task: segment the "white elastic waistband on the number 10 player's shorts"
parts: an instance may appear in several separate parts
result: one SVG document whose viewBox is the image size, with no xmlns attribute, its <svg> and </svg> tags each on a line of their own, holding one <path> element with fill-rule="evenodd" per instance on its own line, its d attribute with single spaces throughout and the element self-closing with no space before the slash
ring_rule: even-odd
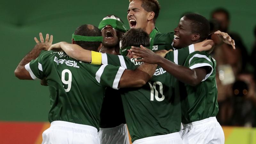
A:
<svg viewBox="0 0 256 144">
<path fill-rule="evenodd" d="M 179 132 L 174 132 L 170 134 L 164 134 L 164 135 L 157 135 L 157 136 L 152 136 L 152 137 L 147 137 L 139 140 L 134 140 L 132 144 L 139 144 L 139 143 L 145 143 L 145 142 L 152 142 L 152 140 L 170 140 L 170 139 L 175 139 L 175 138 L 180 138 Z"/>
</svg>

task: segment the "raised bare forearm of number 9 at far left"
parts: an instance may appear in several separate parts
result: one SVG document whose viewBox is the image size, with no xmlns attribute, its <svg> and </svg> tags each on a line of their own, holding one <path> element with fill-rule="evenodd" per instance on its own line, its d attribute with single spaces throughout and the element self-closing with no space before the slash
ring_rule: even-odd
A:
<svg viewBox="0 0 256 144">
<path fill-rule="evenodd" d="M 35 47 L 20 61 L 19 65 L 14 71 L 15 76 L 19 79 L 32 79 L 29 72 L 25 69 L 25 65 L 31 60 L 36 59 L 43 49 L 43 43 L 36 44 Z"/>
</svg>

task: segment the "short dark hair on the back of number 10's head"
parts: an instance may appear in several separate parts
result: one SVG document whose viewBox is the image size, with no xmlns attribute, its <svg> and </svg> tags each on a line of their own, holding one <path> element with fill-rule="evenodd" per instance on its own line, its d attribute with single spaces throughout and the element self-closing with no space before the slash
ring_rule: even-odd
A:
<svg viewBox="0 0 256 144">
<path fill-rule="evenodd" d="M 122 46 L 120 48 L 125 48 L 127 46 L 149 46 L 149 35 L 141 28 L 131 28 L 128 30 L 124 36 L 121 38 Z"/>
</svg>

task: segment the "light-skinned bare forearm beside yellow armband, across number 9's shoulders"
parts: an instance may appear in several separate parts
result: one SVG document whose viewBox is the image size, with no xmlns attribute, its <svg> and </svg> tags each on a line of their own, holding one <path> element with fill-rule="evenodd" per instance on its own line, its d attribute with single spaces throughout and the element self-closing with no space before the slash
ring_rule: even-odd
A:
<svg viewBox="0 0 256 144">
<path fill-rule="evenodd" d="M 90 62 L 92 60 L 92 51 L 85 50 L 77 44 L 63 43 L 60 47 L 71 58 L 84 62 Z"/>
</svg>

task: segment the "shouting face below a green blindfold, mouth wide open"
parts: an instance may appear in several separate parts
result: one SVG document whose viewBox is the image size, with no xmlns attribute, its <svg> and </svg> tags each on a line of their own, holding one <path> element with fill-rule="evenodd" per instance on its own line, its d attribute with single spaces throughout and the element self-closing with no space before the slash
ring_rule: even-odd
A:
<svg viewBox="0 0 256 144">
<path fill-rule="evenodd" d="M 118 43 L 118 36 L 116 30 L 112 28 L 112 26 L 107 25 L 101 31 L 103 41 L 102 44 L 105 47 L 113 47 Z"/>
</svg>

